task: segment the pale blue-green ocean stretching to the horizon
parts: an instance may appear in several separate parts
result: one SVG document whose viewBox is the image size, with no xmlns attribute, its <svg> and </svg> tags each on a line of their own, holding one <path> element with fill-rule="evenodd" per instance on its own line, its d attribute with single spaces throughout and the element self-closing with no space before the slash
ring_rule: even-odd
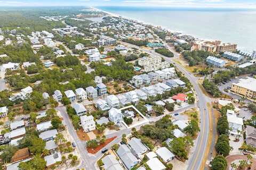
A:
<svg viewBox="0 0 256 170">
<path fill-rule="evenodd" d="M 125 6 L 97 8 L 196 38 L 237 43 L 238 49 L 244 51 L 256 49 L 256 10 Z"/>
</svg>

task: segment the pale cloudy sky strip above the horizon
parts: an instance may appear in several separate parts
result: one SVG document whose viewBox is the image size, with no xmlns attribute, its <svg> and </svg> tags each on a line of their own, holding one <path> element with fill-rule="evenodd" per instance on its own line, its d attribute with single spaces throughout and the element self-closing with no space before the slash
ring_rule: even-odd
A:
<svg viewBox="0 0 256 170">
<path fill-rule="evenodd" d="M 0 0 L 0 6 L 160 6 L 256 8 L 256 0 Z"/>
</svg>

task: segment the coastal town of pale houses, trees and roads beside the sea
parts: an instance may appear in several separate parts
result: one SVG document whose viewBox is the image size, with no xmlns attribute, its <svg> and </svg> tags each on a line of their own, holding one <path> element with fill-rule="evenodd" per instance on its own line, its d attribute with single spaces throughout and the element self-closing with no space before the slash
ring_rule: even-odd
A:
<svg viewBox="0 0 256 170">
<path fill-rule="evenodd" d="M 0 19 L 1 169 L 256 168 L 256 49 L 96 8 L 26 14 Z"/>
</svg>

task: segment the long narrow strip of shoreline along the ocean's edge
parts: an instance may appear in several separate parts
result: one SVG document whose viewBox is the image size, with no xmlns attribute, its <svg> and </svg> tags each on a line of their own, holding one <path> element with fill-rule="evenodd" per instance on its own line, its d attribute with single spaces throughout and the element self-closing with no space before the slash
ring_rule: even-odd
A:
<svg viewBox="0 0 256 170">
<path fill-rule="evenodd" d="M 166 26 L 163 26 L 163 25 L 154 25 L 154 24 L 152 24 L 152 23 L 147 23 L 147 22 L 144 22 L 144 21 L 140 21 L 140 20 L 138 20 L 138 19 L 133 19 L 133 18 L 129 18 L 129 17 L 127 17 L 127 16 L 122 16 L 122 15 L 120 15 L 120 14 L 111 13 L 111 12 L 108 12 L 108 11 L 105 11 L 105 10 L 101 10 L 100 8 L 97 8 L 97 7 L 91 7 L 91 8 L 93 8 L 94 10 L 100 11 L 100 12 L 104 12 L 104 13 L 110 15 L 110 16 L 113 16 L 113 17 L 121 17 L 121 18 L 124 18 L 124 19 L 137 21 L 137 22 L 140 22 L 140 23 L 142 23 L 142 24 L 151 25 L 151 26 L 153 26 L 153 27 L 161 27 L 162 29 L 167 30 L 167 31 L 169 31 L 169 32 L 177 32 L 177 33 L 180 33 L 181 35 L 192 36 L 192 37 L 194 37 L 194 38 L 197 39 L 197 40 L 209 40 L 209 41 L 220 40 L 220 39 L 211 39 L 211 38 L 203 38 L 203 37 L 200 38 L 199 36 L 188 34 L 188 33 L 184 32 L 184 31 L 182 31 L 182 30 L 172 30 L 172 29 L 168 29 Z M 220 40 L 220 41 L 222 41 L 222 40 Z M 227 43 L 227 42 L 224 42 L 224 43 Z M 230 43 L 230 42 L 228 42 L 228 43 Z M 232 42 L 232 43 L 234 43 L 234 42 Z M 252 53 L 252 50 L 247 50 L 248 47 L 240 47 L 237 42 L 235 42 L 235 44 L 237 44 L 237 46 L 238 46 L 237 49 L 238 49 L 238 50 L 241 50 L 242 52 Z"/>
</svg>

